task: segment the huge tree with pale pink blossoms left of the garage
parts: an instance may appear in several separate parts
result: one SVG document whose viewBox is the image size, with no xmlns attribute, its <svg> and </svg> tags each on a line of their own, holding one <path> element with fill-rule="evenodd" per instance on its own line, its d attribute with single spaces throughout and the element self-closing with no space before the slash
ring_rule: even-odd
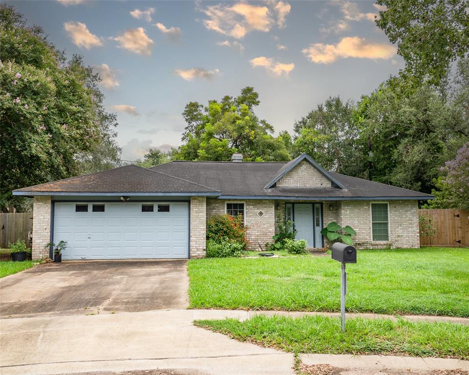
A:
<svg viewBox="0 0 469 375">
<path fill-rule="evenodd" d="M 81 57 L 66 61 L 12 6 L 0 5 L 0 26 L 0 209 L 14 210 L 13 189 L 112 167 L 120 149 Z"/>
</svg>

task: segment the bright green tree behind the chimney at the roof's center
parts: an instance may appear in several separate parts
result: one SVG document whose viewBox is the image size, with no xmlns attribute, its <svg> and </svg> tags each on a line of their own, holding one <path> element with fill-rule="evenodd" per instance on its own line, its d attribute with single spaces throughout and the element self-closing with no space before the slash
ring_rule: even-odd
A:
<svg viewBox="0 0 469 375">
<path fill-rule="evenodd" d="M 172 158 L 229 161 L 233 153 L 241 152 L 248 161 L 289 160 L 285 134 L 275 137 L 272 125 L 256 116 L 254 108 L 259 103 L 254 88 L 245 87 L 235 98 L 227 95 L 207 106 L 187 104 L 183 112 L 185 144 Z"/>
</svg>

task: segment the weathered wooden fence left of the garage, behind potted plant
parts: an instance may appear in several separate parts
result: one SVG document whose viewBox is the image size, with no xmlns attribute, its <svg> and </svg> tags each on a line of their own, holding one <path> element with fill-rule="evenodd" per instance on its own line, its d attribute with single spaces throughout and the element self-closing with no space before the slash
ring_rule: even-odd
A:
<svg viewBox="0 0 469 375">
<path fill-rule="evenodd" d="M 7 248 L 8 242 L 16 242 L 19 238 L 30 246 L 28 239 L 30 230 L 33 230 L 32 212 L 0 212 L 0 248 Z"/>
</svg>

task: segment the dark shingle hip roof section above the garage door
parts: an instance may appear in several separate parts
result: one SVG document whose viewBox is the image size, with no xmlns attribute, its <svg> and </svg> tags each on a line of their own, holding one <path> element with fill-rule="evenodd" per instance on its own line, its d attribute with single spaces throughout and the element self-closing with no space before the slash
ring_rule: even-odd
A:
<svg viewBox="0 0 469 375">
<path fill-rule="evenodd" d="M 162 171 L 134 165 L 114 168 L 104 172 L 70 177 L 41 185 L 24 187 L 18 192 L 216 192 L 217 190 L 195 182 L 169 176 Z"/>
</svg>

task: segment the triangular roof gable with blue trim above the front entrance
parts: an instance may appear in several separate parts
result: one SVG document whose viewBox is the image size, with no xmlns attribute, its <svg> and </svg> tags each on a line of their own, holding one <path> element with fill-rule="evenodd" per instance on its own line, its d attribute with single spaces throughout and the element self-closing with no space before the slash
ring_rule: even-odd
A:
<svg viewBox="0 0 469 375">
<path fill-rule="evenodd" d="M 314 169 L 309 168 L 308 170 L 308 165 L 313 167 Z M 295 172 L 299 171 L 299 168 L 303 169 L 303 176 L 294 176 L 294 174 L 297 174 Z M 289 175 L 290 178 L 288 178 Z M 319 176 L 322 176 L 322 178 L 320 178 Z M 328 181 L 331 184 L 326 184 L 325 181 Z M 280 185 L 278 185 L 277 183 L 280 183 Z M 275 178 L 270 181 L 264 188 L 268 189 L 276 184 L 277 186 L 283 187 L 332 187 L 332 183 L 335 184 L 337 187 L 340 187 L 341 189 L 345 189 L 345 187 L 339 182 L 339 180 L 337 180 L 332 174 L 330 174 L 317 162 L 311 159 L 308 154 L 303 153 L 298 156 L 298 158 L 293 159 L 291 162 L 281 167 L 277 172 Z M 293 186 L 289 186 L 288 184 Z M 310 185 L 306 186 L 305 184 Z"/>
</svg>

